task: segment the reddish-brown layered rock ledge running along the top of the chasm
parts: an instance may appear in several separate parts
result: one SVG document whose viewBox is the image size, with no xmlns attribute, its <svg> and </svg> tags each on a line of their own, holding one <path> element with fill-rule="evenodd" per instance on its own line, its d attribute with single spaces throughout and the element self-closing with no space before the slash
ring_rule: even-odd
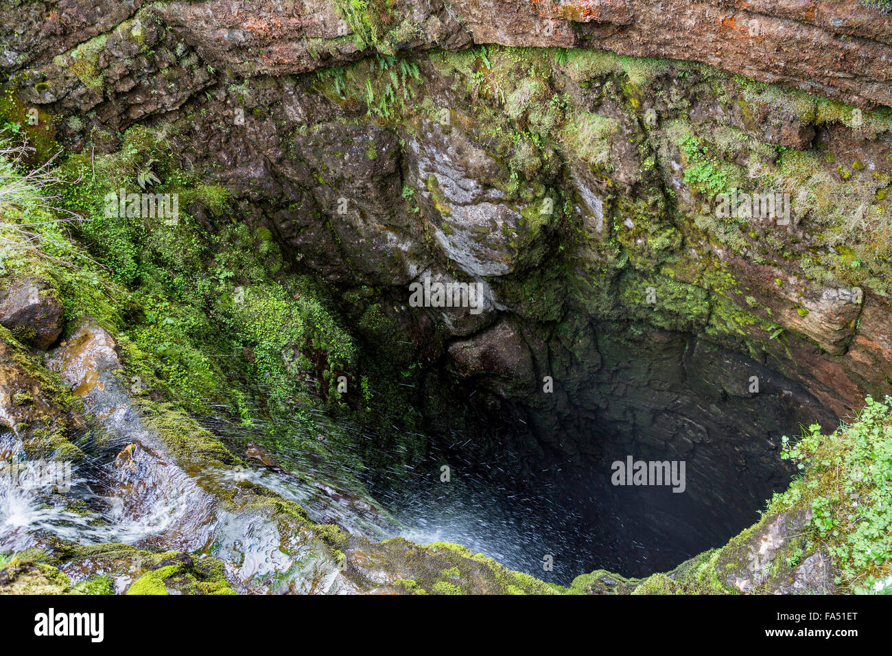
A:
<svg viewBox="0 0 892 656">
<path fill-rule="evenodd" d="M 161 21 L 205 62 L 237 75 L 288 74 L 390 49 L 599 47 L 619 54 L 704 62 L 765 82 L 808 88 L 855 104 L 888 104 L 892 21 L 857 0 L 833 2 L 428 1 L 366 12 L 311 2 L 7 3 L 7 71 L 42 64 L 136 14 Z M 347 5 L 344 5 L 347 7 Z M 146 12 L 139 10 L 145 7 Z M 344 19 L 347 19 L 346 25 Z M 359 46 L 348 44 L 355 35 Z M 365 39 L 368 43 L 363 44 Z M 320 47 L 321 46 L 321 47 Z M 318 50 L 331 50 L 318 56 Z"/>
</svg>

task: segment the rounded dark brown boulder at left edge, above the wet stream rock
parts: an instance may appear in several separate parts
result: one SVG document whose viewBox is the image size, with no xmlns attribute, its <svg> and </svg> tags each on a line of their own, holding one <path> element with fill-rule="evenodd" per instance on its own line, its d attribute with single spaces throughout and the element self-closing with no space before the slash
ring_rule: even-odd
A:
<svg viewBox="0 0 892 656">
<path fill-rule="evenodd" d="M 46 349 L 62 334 L 62 305 L 45 283 L 12 280 L 0 290 L 0 325 L 20 342 Z"/>
</svg>

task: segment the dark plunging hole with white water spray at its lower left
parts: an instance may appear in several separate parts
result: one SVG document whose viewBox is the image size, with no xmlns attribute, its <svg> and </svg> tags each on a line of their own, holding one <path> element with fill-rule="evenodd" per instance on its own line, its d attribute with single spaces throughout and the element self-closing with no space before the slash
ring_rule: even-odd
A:
<svg viewBox="0 0 892 656">
<path fill-rule="evenodd" d="M 478 429 L 454 430 L 408 485 L 369 480 L 409 525 L 404 535 L 464 544 L 561 585 L 596 569 L 646 577 L 754 524 L 795 471 L 780 437 L 838 421 L 789 378 L 691 336 L 598 346 L 599 366 L 567 383 L 558 411 L 473 394 L 485 383 L 468 382 Z M 683 492 L 614 485 L 614 463 L 630 457 L 676 463 L 676 475 L 683 461 Z"/>
</svg>

